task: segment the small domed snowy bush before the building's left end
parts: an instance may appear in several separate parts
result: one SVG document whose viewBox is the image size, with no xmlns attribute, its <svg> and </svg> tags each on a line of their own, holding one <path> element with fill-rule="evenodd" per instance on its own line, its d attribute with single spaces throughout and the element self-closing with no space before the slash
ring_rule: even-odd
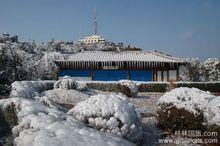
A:
<svg viewBox="0 0 220 146">
<path fill-rule="evenodd" d="M 58 80 L 54 84 L 54 89 L 61 88 L 61 89 L 76 89 L 77 88 L 77 82 L 69 77 L 63 78 L 61 80 Z"/>
</svg>

